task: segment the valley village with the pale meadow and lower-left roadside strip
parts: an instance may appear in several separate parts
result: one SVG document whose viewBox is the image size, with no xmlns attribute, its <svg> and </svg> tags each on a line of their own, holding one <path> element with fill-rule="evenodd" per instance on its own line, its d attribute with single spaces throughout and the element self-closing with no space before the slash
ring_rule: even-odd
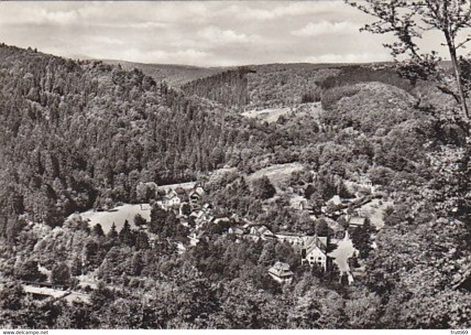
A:
<svg viewBox="0 0 471 335">
<path fill-rule="evenodd" d="M 156 243 L 159 243 L 159 239 L 158 235 L 149 229 L 149 221 L 151 209 L 156 207 L 167 213 L 172 213 L 177 219 L 176 222 L 189 232 L 186 242 L 172 241 L 176 245 L 178 253 L 185 253 L 202 241 L 208 242 L 211 238 L 208 230 L 211 227 L 218 227 L 217 230 L 222 232 L 222 235 L 232 237 L 235 243 L 248 239 L 262 244 L 270 241 L 289 244 L 298 255 L 300 265 L 315 267 L 321 273 L 339 271 L 339 280 L 346 278 L 346 284 L 350 285 L 356 277 L 364 275 L 364 269 L 358 265 L 358 250 L 352 244 L 349 230 L 362 227 L 367 220 L 373 224 L 375 229 L 381 229 L 383 225 L 382 212 L 392 202 L 368 179 L 361 179 L 357 182 L 346 181 L 345 184 L 351 191 L 351 196 L 347 198 L 335 195 L 325 201 L 320 211 L 317 212 L 309 206 L 309 202 L 304 196 L 299 195 L 299 192 L 293 192 L 290 199 L 292 210 L 309 214 L 313 221 L 322 219 L 327 223 L 330 233 L 324 235 L 290 231 L 289 227 L 273 232 L 267 225 L 250 221 L 240 217 L 237 213 L 220 215 L 217 208 L 213 208 L 212 204 L 205 201 L 206 192 L 203 186 L 195 182 L 159 187 L 152 182 L 139 183 L 137 188 L 141 193 L 148 193 L 149 189 L 152 190 L 151 203 L 122 205 L 116 207 L 117 209 L 110 208 L 109 210 L 73 214 L 68 220 L 75 220 L 83 216 L 83 219 L 89 222 L 90 228 L 99 221 L 102 222 L 100 226 L 103 224 L 103 228 L 107 232 L 111 229 L 110 220 L 113 221 L 113 226 L 116 221 L 122 227 L 122 223 L 116 218 L 123 219 L 125 215 L 123 216 L 122 210 L 131 209 L 130 212 L 127 212 L 127 217 L 139 216 L 145 222 L 137 227 L 134 224 L 136 220 L 129 220 L 134 225 L 133 228 L 144 232 L 148 236 L 150 246 L 155 247 Z M 108 223 L 106 223 L 107 221 Z M 125 221 L 128 222 L 127 219 Z M 371 247 L 376 247 L 374 241 Z M 356 266 L 352 266 L 353 259 Z M 282 261 L 276 261 L 266 271 L 274 281 L 280 284 L 291 283 L 295 276 L 290 265 Z M 89 293 L 84 292 L 83 287 L 96 288 L 96 280 L 90 276 L 82 275 L 77 281 L 78 285 L 75 287 L 53 285 L 49 282 L 23 282 L 22 285 L 25 292 L 32 294 L 37 299 L 49 296 L 55 300 L 88 302 Z"/>
</svg>

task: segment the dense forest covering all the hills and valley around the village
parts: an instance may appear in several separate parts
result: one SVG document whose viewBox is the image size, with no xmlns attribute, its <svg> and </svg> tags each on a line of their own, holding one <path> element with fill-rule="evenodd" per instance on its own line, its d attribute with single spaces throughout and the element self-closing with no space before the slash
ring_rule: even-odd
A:
<svg viewBox="0 0 471 335">
<path fill-rule="evenodd" d="M 470 146 L 456 101 L 387 64 L 252 70 L 176 89 L 138 69 L 0 46 L 2 327 L 471 327 Z M 276 122 L 239 114 L 278 107 L 289 113 Z M 302 169 L 254 177 L 285 163 Z M 189 247 L 190 209 L 156 205 L 157 185 L 197 180 L 197 205 L 219 219 L 330 235 L 332 219 L 289 196 L 317 213 L 362 178 L 392 205 L 382 229 L 349 229 L 363 271 L 352 285 L 301 265 L 290 244 L 237 239 L 224 220 Z M 65 221 L 143 201 L 149 222 Z M 292 283 L 268 276 L 276 261 Z M 45 273 L 50 285 L 98 284 L 83 285 L 89 302 L 35 300 L 21 283 Z"/>
</svg>

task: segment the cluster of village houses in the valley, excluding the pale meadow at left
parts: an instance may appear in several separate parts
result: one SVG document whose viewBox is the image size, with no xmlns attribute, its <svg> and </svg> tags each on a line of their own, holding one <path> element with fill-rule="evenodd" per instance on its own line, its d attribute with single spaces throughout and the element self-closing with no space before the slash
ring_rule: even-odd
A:
<svg viewBox="0 0 471 335">
<path fill-rule="evenodd" d="M 348 230 L 363 226 L 366 220 L 369 220 L 375 229 L 381 229 L 382 212 L 392 204 L 387 195 L 373 185 L 371 180 L 361 178 L 357 182 L 346 181 L 352 196 L 342 198 L 335 195 L 325 202 L 320 212 L 314 212 L 303 196 L 292 196 L 290 201 L 295 211 L 309 213 L 313 221 L 323 219 L 332 231 L 331 234 L 307 235 L 290 231 L 289 227 L 275 233 L 266 225 L 241 218 L 237 213 L 225 216 L 215 214 L 217 211 L 212 205 L 203 202 L 205 191 L 200 184 L 183 185 L 185 188 L 179 186 L 159 188 L 155 202 L 163 210 L 173 211 L 180 224 L 190 231 L 187 235 L 188 245 L 178 243 L 180 253 L 197 245 L 201 240 L 210 238 L 207 228 L 210 225 L 217 225 L 224 228 L 224 234 L 235 237 L 235 243 L 241 239 L 262 243 L 273 240 L 289 243 L 299 255 L 301 265 L 316 266 L 317 269 L 328 272 L 334 269 L 335 263 L 335 268 L 340 271 L 340 275 L 348 278 L 349 284 L 354 281 L 355 276 L 362 276 L 362 272 L 361 269 L 351 269 L 351 258 L 357 256 L 358 251 L 351 243 Z M 154 234 L 149 234 L 149 238 L 150 242 L 154 243 Z M 375 247 L 373 242 L 372 248 Z M 290 283 L 294 275 L 289 265 L 280 261 L 268 268 L 267 272 L 278 283 Z"/>
</svg>

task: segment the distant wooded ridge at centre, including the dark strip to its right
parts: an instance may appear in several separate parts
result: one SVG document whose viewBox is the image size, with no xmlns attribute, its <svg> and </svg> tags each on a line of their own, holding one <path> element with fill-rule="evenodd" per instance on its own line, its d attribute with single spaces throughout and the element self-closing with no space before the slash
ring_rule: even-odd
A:
<svg viewBox="0 0 471 335">
<path fill-rule="evenodd" d="M 239 111 L 320 101 L 323 90 L 360 82 L 383 82 L 411 90 L 392 68 L 390 63 L 250 65 L 221 69 L 181 88 Z"/>
</svg>

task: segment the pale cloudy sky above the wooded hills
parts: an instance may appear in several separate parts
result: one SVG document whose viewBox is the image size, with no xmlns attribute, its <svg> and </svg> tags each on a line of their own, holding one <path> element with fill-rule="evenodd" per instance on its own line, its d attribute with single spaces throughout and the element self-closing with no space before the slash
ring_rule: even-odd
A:
<svg viewBox="0 0 471 335">
<path fill-rule="evenodd" d="M 227 66 L 391 60 L 329 1 L 0 1 L 0 42 L 71 58 Z"/>
</svg>

